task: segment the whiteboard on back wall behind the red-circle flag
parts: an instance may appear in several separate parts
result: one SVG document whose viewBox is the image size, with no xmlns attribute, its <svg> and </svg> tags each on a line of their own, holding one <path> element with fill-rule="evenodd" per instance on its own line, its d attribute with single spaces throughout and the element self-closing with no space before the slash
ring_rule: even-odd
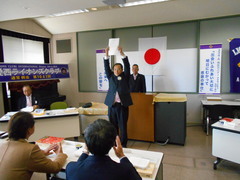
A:
<svg viewBox="0 0 240 180">
<path fill-rule="evenodd" d="M 139 65 L 139 73 L 146 78 L 147 92 L 196 92 L 197 87 L 197 48 L 167 50 L 162 63 L 161 75 L 145 75 L 139 58 L 141 52 L 125 52 L 130 67 Z M 114 63 L 122 63 L 121 56 L 116 56 Z"/>
</svg>

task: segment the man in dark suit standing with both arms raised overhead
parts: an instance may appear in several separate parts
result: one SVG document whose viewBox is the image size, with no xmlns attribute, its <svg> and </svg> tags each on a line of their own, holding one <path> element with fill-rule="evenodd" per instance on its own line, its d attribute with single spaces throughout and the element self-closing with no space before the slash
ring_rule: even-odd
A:
<svg viewBox="0 0 240 180">
<path fill-rule="evenodd" d="M 109 66 L 109 48 L 106 48 L 106 56 L 104 58 L 105 73 L 109 81 L 109 89 L 105 99 L 105 104 L 108 106 L 108 117 L 115 128 L 120 130 L 120 139 L 123 147 L 127 147 L 127 121 L 128 121 L 128 106 L 132 105 L 132 98 L 129 90 L 130 64 L 128 57 L 118 48 L 123 64 L 116 63 L 113 66 L 113 71 Z"/>
</svg>

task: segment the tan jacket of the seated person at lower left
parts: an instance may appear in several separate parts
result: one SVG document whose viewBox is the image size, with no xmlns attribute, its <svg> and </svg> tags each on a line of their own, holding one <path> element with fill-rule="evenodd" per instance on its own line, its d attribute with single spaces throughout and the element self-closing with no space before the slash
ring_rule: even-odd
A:
<svg viewBox="0 0 240 180">
<path fill-rule="evenodd" d="M 58 154 L 54 161 L 48 159 L 35 144 L 24 139 L 0 144 L 0 179 L 28 180 L 33 172 L 57 173 L 63 167 L 66 154 Z"/>
</svg>

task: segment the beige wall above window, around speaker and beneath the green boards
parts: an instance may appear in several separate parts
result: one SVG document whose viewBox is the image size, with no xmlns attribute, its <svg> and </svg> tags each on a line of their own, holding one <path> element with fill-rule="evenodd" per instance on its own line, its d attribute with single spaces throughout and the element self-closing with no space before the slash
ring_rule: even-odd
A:
<svg viewBox="0 0 240 180">
<path fill-rule="evenodd" d="M 78 91 L 78 64 L 77 64 L 77 43 L 76 33 L 51 35 L 45 29 L 37 25 L 32 20 L 18 20 L 0 22 L 0 28 L 18 31 L 22 33 L 34 34 L 43 37 L 52 37 L 51 39 L 51 57 L 54 64 L 69 64 L 70 79 L 61 79 L 58 84 L 59 93 L 67 96 L 69 106 L 78 107 L 79 103 L 86 102 L 104 102 L 106 93 L 97 92 L 79 92 Z M 71 39 L 71 53 L 56 53 L 56 40 Z M 0 85 L 0 115 L 3 114 L 3 99 Z M 239 99 L 238 94 L 221 94 L 223 99 Z M 205 95 L 187 94 L 187 122 L 197 123 L 202 122 L 201 100 L 206 99 Z"/>
</svg>

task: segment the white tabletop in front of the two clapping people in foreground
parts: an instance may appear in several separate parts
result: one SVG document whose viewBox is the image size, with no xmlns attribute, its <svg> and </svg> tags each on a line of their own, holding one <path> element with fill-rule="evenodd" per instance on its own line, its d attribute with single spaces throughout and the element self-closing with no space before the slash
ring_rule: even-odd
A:
<svg viewBox="0 0 240 180">
<path fill-rule="evenodd" d="M 67 161 L 63 167 L 63 169 L 66 168 L 66 165 L 71 162 L 71 161 L 77 161 L 79 156 L 82 154 L 82 149 L 76 149 L 76 145 L 84 145 L 84 143 L 80 142 L 75 142 L 75 141 L 67 141 L 64 140 L 64 143 L 62 144 L 63 147 L 63 152 L 68 155 Z M 48 145 L 43 145 L 39 144 L 39 147 L 41 149 L 45 149 Z M 128 158 L 130 157 L 138 157 L 138 158 L 143 158 L 143 159 L 148 159 L 150 162 L 155 164 L 155 170 L 153 173 L 152 178 L 143 178 L 143 180 L 150 180 L 150 179 L 155 179 L 157 176 L 157 172 L 160 168 L 160 164 L 163 159 L 163 153 L 161 152 L 154 152 L 154 151 L 144 151 L 144 150 L 137 150 L 137 149 L 130 149 L 130 148 L 123 148 L 125 156 Z M 109 152 L 109 156 L 111 157 L 112 160 L 119 162 L 119 158 L 115 155 L 114 150 L 111 149 Z M 50 158 L 54 158 L 55 155 L 51 155 Z"/>
</svg>

